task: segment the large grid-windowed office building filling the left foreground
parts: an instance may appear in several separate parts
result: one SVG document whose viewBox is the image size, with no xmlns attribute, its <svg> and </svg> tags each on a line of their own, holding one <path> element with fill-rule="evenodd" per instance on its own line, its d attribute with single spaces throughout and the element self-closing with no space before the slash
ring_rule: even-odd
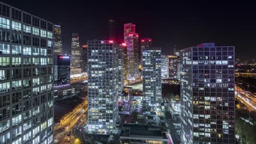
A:
<svg viewBox="0 0 256 144">
<path fill-rule="evenodd" d="M 0 143 L 53 143 L 53 23 L 0 8 Z"/>
</svg>

